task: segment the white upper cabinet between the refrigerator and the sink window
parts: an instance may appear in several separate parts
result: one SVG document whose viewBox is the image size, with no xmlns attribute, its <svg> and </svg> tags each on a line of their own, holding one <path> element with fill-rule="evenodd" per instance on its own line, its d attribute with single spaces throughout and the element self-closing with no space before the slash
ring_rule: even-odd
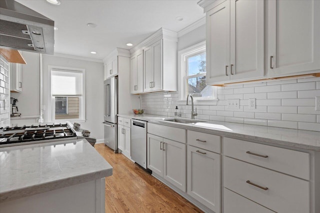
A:
<svg viewBox="0 0 320 213">
<path fill-rule="evenodd" d="M 139 49 L 142 49 L 143 56 L 136 55 Z M 130 52 L 132 94 L 176 91 L 176 32 L 161 28 L 130 49 Z M 141 70 L 143 70 L 142 78 Z"/>
</svg>

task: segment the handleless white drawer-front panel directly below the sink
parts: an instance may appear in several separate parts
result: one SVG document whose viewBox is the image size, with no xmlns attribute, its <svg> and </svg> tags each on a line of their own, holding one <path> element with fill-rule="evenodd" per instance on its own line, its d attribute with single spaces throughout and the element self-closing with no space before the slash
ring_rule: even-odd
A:
<svg viewBox="0 0 320 213">
<path fill-rule="evenodd" d="M 185 140 L 185 131 L 184 129 L 179 129 L 175 127 L 169 127 L 159 124 L 147 124 L 147 131 L 152 135 L 157 135 L 163 138 L 167 138 L 173 141 L 178 141 L 181 143 L 186 142 Z"/>
</svg>

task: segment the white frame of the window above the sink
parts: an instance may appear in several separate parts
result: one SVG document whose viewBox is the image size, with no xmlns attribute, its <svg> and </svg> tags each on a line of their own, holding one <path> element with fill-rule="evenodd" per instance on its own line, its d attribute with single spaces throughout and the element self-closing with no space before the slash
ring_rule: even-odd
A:
<svg viewBox="0 0 320 213">
<path fill-rule="evenodd" d="M 195 45 L 189 46 L 185 49 L 182 49 L 178 51 L 178 96 L 179 101 L 182 103 L 183 101 L 186 101 L 187 96 L 187 83 L 186 79 L 190 77 L 199 77 L 199 76 L 206 76 L 206 72 L 199 73 L 195 75 L 187 75 L 188 69 L 187 69 L 187 58 L 199 55 L 202 52 L 205 52 L 205 41 L 202 41 L 200 43 L 197 43 Z M 212 96 L 211 97 L 194 97 L 194 102 L 198 102 L 198 104 L 212 104 L 217 101 L 217 89 L 216 87 L 212 88 Z M 207 103 L 205 103 L 207 102 Z"/>
</svg>

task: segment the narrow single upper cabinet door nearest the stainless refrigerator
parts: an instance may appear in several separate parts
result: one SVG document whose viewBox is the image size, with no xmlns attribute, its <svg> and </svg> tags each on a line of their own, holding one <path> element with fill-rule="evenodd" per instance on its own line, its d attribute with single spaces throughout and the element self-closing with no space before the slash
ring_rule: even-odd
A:
<svg viewBox="0 0 320 213">
<path fill-rule="evenodd" d="M 130 57 L 130 93 L 143 92 L 143 54 L 138 51 Z"/>
</svg>

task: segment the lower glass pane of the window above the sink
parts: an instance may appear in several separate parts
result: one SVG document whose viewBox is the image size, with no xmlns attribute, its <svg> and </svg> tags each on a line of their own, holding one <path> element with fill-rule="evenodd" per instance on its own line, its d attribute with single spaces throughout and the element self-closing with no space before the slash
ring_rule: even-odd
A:
<svg viewBox="0 0 320 213">
<path fill-rule="evenodd" d="M 193 97 L 211 97 L 212 86 L 205 84 L 205 76 L 187 79 L 187 94 Z"/>
</svg>

